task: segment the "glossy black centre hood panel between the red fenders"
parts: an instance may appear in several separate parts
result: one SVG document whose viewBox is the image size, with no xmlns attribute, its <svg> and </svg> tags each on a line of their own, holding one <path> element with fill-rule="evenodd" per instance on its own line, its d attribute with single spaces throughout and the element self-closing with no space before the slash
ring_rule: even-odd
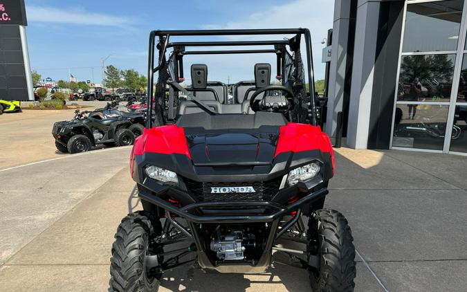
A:
<svg viewBox="0 0 467 292">
<path fill-rule="evenodd" d="M 194 165 L 271 165 L 279 127 L 222 132 L 185 129 Z"/>
</svg>

